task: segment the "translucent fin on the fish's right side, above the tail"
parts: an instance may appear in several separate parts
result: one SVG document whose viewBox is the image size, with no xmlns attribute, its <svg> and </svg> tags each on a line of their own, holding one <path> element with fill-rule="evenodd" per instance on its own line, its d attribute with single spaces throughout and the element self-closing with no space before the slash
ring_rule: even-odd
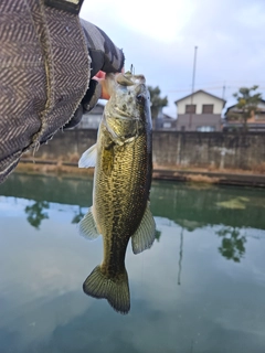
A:
<svg viewBox="0 0 265 353">
<path fill-rule="evenodd" d="M 139 254 L 152 246 L 156 235 L 156 223 L 152 217 L 149 205 L 141 220 L 136 233 L 131 236 L 131 246 L 134 254 Z"/>
</svg>

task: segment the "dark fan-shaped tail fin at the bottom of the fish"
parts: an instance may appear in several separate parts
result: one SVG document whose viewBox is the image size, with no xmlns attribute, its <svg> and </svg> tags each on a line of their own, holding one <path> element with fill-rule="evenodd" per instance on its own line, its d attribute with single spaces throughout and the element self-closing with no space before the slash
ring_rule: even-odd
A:
<svg viewBox="0 0 265 353">
<path fill-rule="evenodd" d="M 94 298 L 106 298 L 109 304 L 120 313 L 128 313 L 130 310 L 130 293 L 127 271 L 117 279 L 107 278 L 100 266 L 94 268 L 83 285 L 86 295 Z"/>
</svg>

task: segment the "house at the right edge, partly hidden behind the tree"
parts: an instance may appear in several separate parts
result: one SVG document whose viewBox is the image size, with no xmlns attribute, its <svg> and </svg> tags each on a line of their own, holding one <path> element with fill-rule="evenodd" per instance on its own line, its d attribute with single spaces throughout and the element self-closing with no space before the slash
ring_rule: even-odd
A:
<svg viewBox="0 0 265 353">
<path fill-rule="evenodd" d="M 224 127 L 225 131 L 241 130 L 243 128 L 243 121 L 241 119 L 242 110 L 233 105 L 225 111 Z M 247 119 L 248 131 L 265 131 L 265 100 L 261 99 L 257 105 L 256 114 L 252 114 L 252 117 Z"/>
</svg>

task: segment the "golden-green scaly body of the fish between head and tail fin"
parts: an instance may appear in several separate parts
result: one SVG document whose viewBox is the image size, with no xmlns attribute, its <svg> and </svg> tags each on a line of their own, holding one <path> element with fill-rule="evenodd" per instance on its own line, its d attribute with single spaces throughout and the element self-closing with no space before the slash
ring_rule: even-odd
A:
<svg viewBox="0 0 265 353">
<path fill-rule="evenodd" d="M 104 145 L 104 141 L 102 143 Z M 115 271 L 124 271 L 128 240 L 136 232 L 146 208 L 149 195 L 145 169 L 147 153 L 139 153 L 145 147 L 145 133 L 134 142 L 113 147 L 115 149 L 113 170 L 105 173 L 98 168 L 95 175 L 95 221 L 99 232 L 105 235 L 104 264 L 108 265 L 106 268 L 109 270 L 115 268 Z M 137 169 L 136 173 L 131 173 L 134 169 Z M 106 197 L 102 197 L 103 194 Z"/>
</svg>

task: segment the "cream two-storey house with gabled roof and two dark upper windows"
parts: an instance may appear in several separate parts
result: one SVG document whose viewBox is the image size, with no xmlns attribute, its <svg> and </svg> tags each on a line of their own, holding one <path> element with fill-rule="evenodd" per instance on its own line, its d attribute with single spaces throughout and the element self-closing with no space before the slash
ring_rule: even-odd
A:
<svg viewBox="0 0 265 353">
<path fill-rule="evenodd" d="M 177 131 L 221 131 L 225 100 L 205 90 L 174 101 L 178 108 Z"/>
</svg>

